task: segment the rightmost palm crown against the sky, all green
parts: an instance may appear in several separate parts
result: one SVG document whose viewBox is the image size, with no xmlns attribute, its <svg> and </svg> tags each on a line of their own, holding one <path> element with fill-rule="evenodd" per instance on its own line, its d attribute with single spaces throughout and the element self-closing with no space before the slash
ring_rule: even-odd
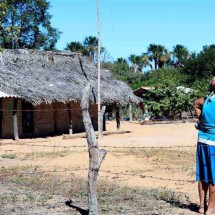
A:
<svg viewBox="0 0 215 215">
<path fill-rule="evenodd" d="M 175 66 L 183 66 L 183 62 L 187 60 L 189 51 L 187 47 L 183 45 L 176 45 L 173 47 L 173 64 Z"/>
</svg>

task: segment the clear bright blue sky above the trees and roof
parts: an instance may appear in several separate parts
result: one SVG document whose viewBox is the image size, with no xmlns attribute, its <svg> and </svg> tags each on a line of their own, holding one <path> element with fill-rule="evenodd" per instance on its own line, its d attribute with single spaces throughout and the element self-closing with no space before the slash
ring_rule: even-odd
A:
<svg viewBox="0 0 215 215">
<path fill-rule="evenodd" d="M 49 0 L 58 49 L 97 36 L 96 0 Z M 191 51 L 215 44 L 214 0 L 100 0 L 101 40 L 114 59 L 141 54 L 150 43 Z"/>
</svg>

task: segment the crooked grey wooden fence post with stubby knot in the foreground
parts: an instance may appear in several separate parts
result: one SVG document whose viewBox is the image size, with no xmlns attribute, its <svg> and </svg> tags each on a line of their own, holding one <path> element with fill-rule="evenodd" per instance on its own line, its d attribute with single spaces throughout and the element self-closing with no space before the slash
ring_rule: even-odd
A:
<svg viewBox="0 0 215 215">
<path fill-rule="evenodd" d="M 106 151 L 98 148 L 95 131 L 92 126 L 89 114 L 89 95 L 92 87 L 87 84 L 83 91 L 81 99 L 81 109 L 83 115 L 84 127 L 87 135 L 88 152 L 89 152 L 89 171 L 88 171 L 88 208 L 89 215 L 98 215 L 98 201 L 96 196 L 96 182 L 99 168 L 103 159 L 105 158 Z"/>
</svg>

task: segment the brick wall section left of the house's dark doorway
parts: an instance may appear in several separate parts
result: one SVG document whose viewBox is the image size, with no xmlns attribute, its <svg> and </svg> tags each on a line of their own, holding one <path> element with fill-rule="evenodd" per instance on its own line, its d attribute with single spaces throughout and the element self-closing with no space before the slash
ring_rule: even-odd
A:
<svg viewBox="0 0 215 215">
<path fill-rule="evenodd" d="M 13 134 L 13 98 L 2 98 L 2 138 L 14 138 Z M 18 99 L 18 132 L 22 136 L 22 102 Z"/>
</svg>

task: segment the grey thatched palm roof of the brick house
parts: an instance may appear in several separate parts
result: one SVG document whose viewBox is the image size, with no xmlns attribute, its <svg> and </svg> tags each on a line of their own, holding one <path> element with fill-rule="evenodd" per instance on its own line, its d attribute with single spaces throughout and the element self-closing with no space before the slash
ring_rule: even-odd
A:
<svg viewBox="0 0 215 215">
<path fill-rule="evenodd" d="M 33 104 L 80 101 L 90 82 L 91 100 L 97 97 L 97 68 L 72 52 L 3 50 L 0 53 L 0 91 Z M 101 71 L 101 100 L 105 103 L 138 103 L 138 98 L 109 71 Z"/>
</svg>

